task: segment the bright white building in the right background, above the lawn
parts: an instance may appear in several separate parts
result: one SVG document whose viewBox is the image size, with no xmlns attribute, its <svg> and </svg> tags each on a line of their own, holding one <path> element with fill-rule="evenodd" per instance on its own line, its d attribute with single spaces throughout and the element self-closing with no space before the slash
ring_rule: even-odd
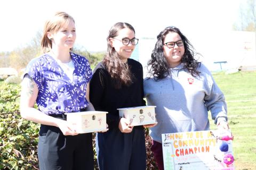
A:
<svg viewBox="0 0 256 170">
<path fill-rule="evenodd" d="M 210 71 L 238 69 L 256 70 L 255 32 L 229 31 L 192 39 L 193 45 L 202 54 L 199 61 Z"/>
</svg>

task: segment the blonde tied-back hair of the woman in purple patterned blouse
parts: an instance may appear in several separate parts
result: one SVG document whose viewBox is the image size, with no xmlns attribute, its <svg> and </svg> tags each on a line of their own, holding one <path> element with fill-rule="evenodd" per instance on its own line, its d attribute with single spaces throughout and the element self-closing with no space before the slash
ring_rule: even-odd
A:
<svg viewBox="0 0 256 170">
<path fill-rule="evenodd" d="M 44 24 L 43 37 L 41 39 L 41 53 L 47 53 L 52 49 L 52 41 L 47 37 L 47 32 L 57 32 L 67 25 L 70 21 L 74 21 L 74 18 L 66 12 L 57 12 L 55 15 L 47 20 Z"/>
</svg>

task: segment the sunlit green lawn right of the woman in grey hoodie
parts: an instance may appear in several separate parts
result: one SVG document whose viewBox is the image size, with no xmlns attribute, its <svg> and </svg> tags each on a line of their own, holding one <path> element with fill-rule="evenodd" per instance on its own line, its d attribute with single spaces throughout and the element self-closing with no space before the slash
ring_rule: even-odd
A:
<svg viewBox="0 0 256 170">
<path fill-rule="evenodd" d="M 236 170 L 256 169 L 256 71 L 213 74 L 225 94 Z M 210 117 L 209 117 L 210 119 Z M 211 129 L 215 129 L 211 121 Z"/>
</svg>

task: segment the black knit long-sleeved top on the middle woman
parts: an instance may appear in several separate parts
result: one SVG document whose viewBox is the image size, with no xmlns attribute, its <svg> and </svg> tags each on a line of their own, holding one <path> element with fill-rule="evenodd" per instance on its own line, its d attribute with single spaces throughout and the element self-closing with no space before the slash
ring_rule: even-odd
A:
<svg viewBox="0 0 256 170">
<path fill-rule="evenodd" d="M 145 106 L 143 100 L 143 69 L 142 65 L 132 59 L 127 60 L 133 75 L 130 86 L 116 89 L 105 66 L 99 63 L 90 81 L 90 101 L 95 111 L 106 111 L 109 129 L 118 128 L 119 113 L 117 108 Z"/>
</svg>

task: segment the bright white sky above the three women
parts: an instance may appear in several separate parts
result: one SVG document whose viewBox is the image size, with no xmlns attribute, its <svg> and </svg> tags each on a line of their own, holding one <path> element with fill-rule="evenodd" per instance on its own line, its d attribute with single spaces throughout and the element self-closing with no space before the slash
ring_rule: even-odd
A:
<svg viewBox="0 0 256 170">
<path fill-rule="evenodd" d="M 89 52 L 106 50 L 106 37 L 116 22 L 128 22 L 135 36 L 155 38 L 167 26 L 178 27 L 200 48 L 221 41 L 238 18 L 246 0 L 8 0 L 1 1 L 0 52 L 22 48 L 43 30 L 47 18 L 65 11 L 75 19 L 76 46 Z M 198 43 L 197 43 L 198 42 Z"/>
</svg>

